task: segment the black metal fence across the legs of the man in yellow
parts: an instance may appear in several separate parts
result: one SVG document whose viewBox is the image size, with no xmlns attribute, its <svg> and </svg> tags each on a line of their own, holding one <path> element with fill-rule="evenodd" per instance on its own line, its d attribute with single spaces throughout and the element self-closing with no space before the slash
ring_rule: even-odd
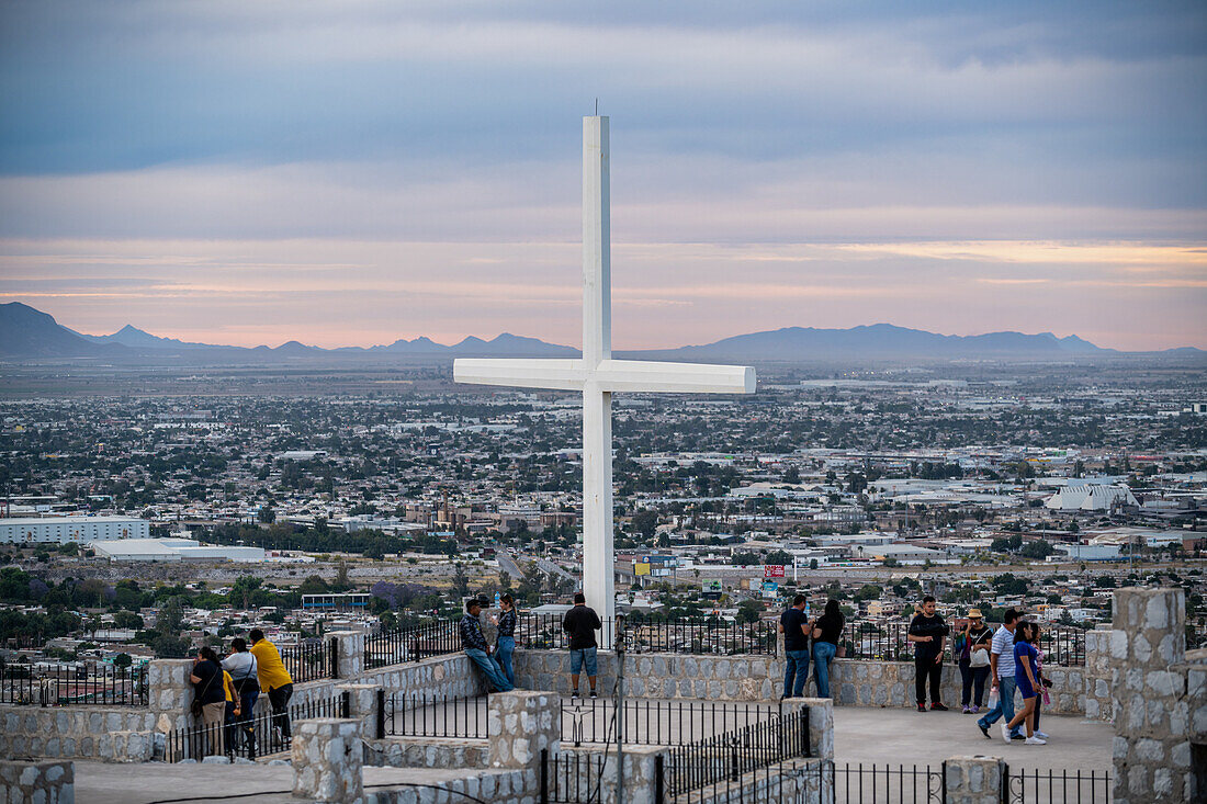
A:
<svg viewBox="0 0 1207 804">
<path fill-rule="evenodd" d="M 169 732 L 164 740 L 164 762 L 200 762 L 208 756 L 256 759 L 292 745 L 291 724 L 311 717 L 348 717 L 349 695 L 333 695 L 293 704 L 287 715 L 267 711 L 255 717 L 228 716 L 222 723 L 196 724 Z M 228 707 L 229 712 L 229 707 Z"/>
</svg>

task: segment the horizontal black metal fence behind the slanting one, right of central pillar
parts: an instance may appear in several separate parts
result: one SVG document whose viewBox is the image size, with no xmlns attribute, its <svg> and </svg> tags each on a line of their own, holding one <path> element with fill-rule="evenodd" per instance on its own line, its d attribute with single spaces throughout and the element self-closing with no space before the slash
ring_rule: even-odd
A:
<svg viewBox="0 0 1207 804">
<path fill-rule="evenodd" d="M 624 740 L 636 745 L 688 745 L 694 740 L 777 718 L 777 704 L 690 700 L 625 700 Z M 608 742 L 618 727 L 616 701 L 561 701 L 561 741 Z"/>
</svg>

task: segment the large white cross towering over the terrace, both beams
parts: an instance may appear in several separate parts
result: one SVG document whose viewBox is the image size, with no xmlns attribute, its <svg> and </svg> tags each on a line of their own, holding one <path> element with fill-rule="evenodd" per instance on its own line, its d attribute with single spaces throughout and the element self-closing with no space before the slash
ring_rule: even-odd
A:
<svg viewBox="0 0 1207 804">
<path fill-rule="evenodd" d="M 612 552 L 612 392 L 753 394 L 748 366 L 612 360 L 612 257 L 608 118 L 583 118 L 582 360 L 453 361 L 453 379 L 583 392 L 583 593 L 611 625 L 616 618 Z M 605 628 L 605 647 L 612 630 Z"/>
</svg>

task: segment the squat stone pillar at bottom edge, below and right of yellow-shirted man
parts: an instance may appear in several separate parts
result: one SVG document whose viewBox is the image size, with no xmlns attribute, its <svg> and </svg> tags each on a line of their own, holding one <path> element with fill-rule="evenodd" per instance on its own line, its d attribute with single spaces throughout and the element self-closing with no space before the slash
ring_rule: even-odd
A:
<svg viewBox="0 0 1207 804">
<path fill-rule="evenodd" d="M 365 802 L 360 721 L 319 717 L 293 724 L 293 796 L 320 804 Z"/>
</svg>

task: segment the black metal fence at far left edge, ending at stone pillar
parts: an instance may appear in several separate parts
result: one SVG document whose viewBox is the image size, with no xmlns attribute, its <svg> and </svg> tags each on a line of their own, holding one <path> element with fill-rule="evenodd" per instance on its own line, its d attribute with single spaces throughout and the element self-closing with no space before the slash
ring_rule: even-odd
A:
<svg viewBox="0 0 1207 804">
<path fill-rule="evenodd" d="M 146 706 L 147 692 L 146 665 L 115 668 L 110 664 L 80 664 L 39 668 L 8 664 L 0 669 L 0 704 Z"/>
</svg>

